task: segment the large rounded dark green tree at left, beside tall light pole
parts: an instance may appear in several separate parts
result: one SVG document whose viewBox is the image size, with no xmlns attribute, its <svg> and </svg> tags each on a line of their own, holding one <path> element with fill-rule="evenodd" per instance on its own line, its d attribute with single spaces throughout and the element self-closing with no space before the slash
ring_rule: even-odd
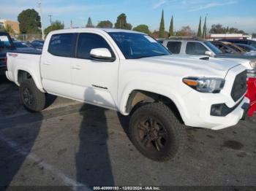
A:
<svg viewBox="0 0 256 191">
<path fill-rule="evenodd" d="M 18 15 L 21 34 L 40 34 L 40 16 L 34 9 L 26 9 Z"/>
</svg>

